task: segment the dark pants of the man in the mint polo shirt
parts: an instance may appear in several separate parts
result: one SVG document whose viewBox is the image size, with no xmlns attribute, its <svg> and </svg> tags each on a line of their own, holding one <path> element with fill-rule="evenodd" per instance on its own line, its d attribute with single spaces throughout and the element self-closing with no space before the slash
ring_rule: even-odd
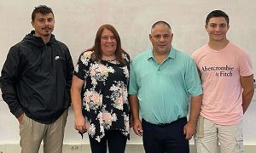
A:
<svg viewBox="0 0 256 153">
<path fill-rule="evenodd" d="M 189 153 L 189 141 L 185 139 L 183 117 L 165 125 L 154 125 L 143 120 L 143 145 L 146 153 Z"/>
</svg>

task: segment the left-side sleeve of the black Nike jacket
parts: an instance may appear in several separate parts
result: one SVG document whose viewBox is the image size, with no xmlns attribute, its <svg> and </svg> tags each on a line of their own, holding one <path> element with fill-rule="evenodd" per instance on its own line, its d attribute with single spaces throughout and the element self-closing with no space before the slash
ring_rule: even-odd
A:
<svg viewBox="0 0 256 153">
<path fill-rule="evenodd" d="M 20 71 L 20 55 L 18 48 L 17 45 L 10 48 L 0 77 L 3 100 L 9 105 L 10 112 L 16 117 L 19 117 L 23 113 L 15 89 L 19 82 Z"/>
</svg>

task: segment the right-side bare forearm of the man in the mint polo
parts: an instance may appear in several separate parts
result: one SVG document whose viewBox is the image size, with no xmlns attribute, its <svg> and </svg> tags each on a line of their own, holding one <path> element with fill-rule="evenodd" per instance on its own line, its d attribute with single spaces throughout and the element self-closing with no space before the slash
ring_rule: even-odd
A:
<svg viewBox="0 0 256 153">
<path fill-rule="evenodd" d="M 194 125 L 196 124 L 198 116 L 201 111 L 201 100 L 202 100 L 202 95 L 191 97 L 189 122 Z"/>
</svg>

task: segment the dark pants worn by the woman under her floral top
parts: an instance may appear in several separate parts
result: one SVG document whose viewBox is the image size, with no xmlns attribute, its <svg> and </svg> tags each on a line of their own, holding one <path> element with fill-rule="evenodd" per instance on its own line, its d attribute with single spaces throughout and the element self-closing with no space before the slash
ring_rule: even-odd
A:
<svg viewBox="0 0 256 153">
<path fill-rule="evenodd" d="M 124 153 L 126 145 L 126 137 L 119 130 L 105 131 L 105 136 L 101 139 L 101 142 L 96 139 L 90 139 L 90 149 L 92 153 L 107 153 L 107 142 L 109 153 Z"/>
</svg>

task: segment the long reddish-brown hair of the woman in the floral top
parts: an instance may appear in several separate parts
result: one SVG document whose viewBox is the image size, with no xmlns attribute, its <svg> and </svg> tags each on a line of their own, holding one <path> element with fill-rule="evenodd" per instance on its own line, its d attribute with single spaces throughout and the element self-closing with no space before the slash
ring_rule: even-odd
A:
<svg viewBox="0 0 256 153">
<path fill-rule="evenodd" d="M 102 59 L 102 48 L 101 48 L 101 39 L 102 39 L 102 31 L 104 29 L 108 29 L 109 31 L 113 32 L 113 35 L 116 39 L 117 42 L 117 48 L 115 51 L 115 56 L 116 59 L 121 63 L 121 64 L 125 64 L 125 59 L 123 58 L 123 54 L 125 53 L 125 50 L 121 47 L 121 40 L 119 37 L 119 33 L 115 30 L 115 28 L 111 25 L 103 25 L 101 26 L 97 33 L 96 33 L 96 38 L 95 38 L 95 43 L 94 46 L 92 48 L 86 49 L 86 51 L 94 51 L 93 54 L 91 54 L 91 59 L 93 61 L 99 61 L 100 59 Z"/>
</svg>

